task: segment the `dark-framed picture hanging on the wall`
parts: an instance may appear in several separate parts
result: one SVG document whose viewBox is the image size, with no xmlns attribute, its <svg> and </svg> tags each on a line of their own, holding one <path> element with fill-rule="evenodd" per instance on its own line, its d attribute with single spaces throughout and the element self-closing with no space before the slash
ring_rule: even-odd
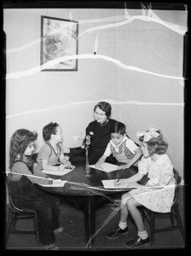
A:
<svg viewBox="0 0 191 256">
<path fill-rule="evenodd" d="M 41 16 L 42 71 L 78 71 L 78 21 Z"/>
</svg>

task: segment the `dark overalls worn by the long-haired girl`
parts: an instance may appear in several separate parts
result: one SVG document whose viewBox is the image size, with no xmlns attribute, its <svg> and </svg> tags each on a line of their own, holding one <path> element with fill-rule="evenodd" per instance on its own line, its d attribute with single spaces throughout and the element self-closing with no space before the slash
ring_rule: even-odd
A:
<svg viewBox="0 0 191 256">
<path fill-rule="evenodd" d="M 23 161 L 20 162 L 23 163 Z M 32 172 L 32 166 L 27 167 Z M 59 198 L 38 189 L 24 175 L 19 180 L 11 181 L 9 179 L 9 186 L 15 207 L 28 208 L 38 212 L 38 231 L 41 244 L 54 243 L 54 230 L 59 227 Z"/>
</svg>

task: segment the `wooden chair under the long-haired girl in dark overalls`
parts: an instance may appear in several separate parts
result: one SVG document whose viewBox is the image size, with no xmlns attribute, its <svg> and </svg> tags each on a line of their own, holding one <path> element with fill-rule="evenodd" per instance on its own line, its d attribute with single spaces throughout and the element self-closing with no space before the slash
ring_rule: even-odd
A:
<svg viewBox="0 0 191 256">
<path fill-rule="evenodd" d="M 38 235 L 38 215 L 36 211 L 30 209 L 20 209 L 14 206 L 14 201 L 12 198 L 11 188 L 9 185 L 9 180 L 7 180 L 7 188 L 9 194 L 9 218 L 7 224 L 7 236 L 6 242 L 9 238 L 9 233 L 17 233 L 17 234 L 36 234 L 37 244 L 39 245 L 39 235 Z M 16 229 L 16 223 L 19 219 L 27 219 L 32 218 L 34 220 L 34 230 L 21 230 Z"/>
</svg>

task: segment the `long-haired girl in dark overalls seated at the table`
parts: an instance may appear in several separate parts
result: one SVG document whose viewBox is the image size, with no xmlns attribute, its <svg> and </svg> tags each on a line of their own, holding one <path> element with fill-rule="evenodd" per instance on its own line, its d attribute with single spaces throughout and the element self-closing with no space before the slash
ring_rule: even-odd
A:
<svg viewBox="0 0 191 256">
<path fill-rule="evenodd" d="M 36 132 L 19 129 L 14 132 L 9 148 L 9 186 L 12 191 L 14 204 L 19 208 L 29 208 L 38 212 L 39 241 L 47 250 L 57 250 L 55 233 L 60 233 L 59 227 L 59 198 L 38 189 L 34 183 L 56 183 L 33 165 L 31 158 Z M 18 174 L 17 174 L 18 173 Z"/>
</svg>

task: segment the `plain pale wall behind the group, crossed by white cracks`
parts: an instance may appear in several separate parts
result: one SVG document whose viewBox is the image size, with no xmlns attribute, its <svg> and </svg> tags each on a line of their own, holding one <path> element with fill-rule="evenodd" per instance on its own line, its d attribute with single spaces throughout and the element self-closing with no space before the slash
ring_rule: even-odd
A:
<svg viewBox="0 0 191 256">
<path fill-rule="evenodd" d="M 106 100 L 112 104 L 111 117 L 124 122 L 136 142 L 136 131 L 146 131 L 150 125 L 161 128 L 171 161 L 183 176 L 187 12 L 153 10 L 152 18 L 145 19 L 146 11 L 127 9 L 126 23 L 124 14 L 124 9 L 3 10 L 7 163 L 10 137 L 19 128 L 38 131 L 36 151 L 43 144 L 43 126 L 50 121 L 61 125 L 66 146 L 80 145 L 73 136 L 84 137 L 95 104 Z M 78 40 L 77 72 L 29 73 L 40 64 L 41 15 L 79 21 L 79 34 L 84 33 Z M 81 55 L 87 58 L 80 59 Z"/>
</svg>

